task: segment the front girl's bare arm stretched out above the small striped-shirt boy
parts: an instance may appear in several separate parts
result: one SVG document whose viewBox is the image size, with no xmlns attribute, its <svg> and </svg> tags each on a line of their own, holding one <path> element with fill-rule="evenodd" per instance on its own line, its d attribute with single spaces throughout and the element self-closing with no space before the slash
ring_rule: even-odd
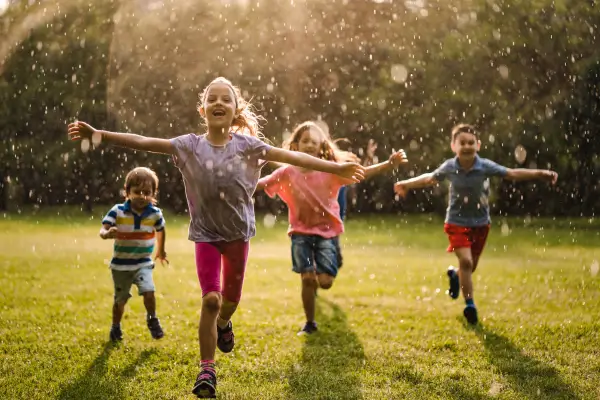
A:
<svg viewBox="0 0 600 400">
<path fill-rule="evenodd" d="M 152 153 L 173 154 L 175 150 L 168 139 L 146 137 L 134 133 L 101 131 L 82 121 L 69 124 L 68 133 L 69 140 L 89 139 L 94 143 L 105 141 L 114 146 Z"/>
</svg>

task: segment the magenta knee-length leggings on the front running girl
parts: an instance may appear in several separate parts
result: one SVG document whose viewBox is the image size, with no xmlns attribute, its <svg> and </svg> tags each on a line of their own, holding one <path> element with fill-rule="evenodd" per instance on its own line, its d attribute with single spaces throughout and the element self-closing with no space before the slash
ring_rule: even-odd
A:
<svg viewBox="0 0 600 400">
<path fill-rule="evenodd" d="M 250 243 L 241 239 L 233 242 L 196 243 L 196 272 L 202 297 L 210 292 L 221 292 L 228 301 L 240 302 L 249 249 Z"/>
</svg>

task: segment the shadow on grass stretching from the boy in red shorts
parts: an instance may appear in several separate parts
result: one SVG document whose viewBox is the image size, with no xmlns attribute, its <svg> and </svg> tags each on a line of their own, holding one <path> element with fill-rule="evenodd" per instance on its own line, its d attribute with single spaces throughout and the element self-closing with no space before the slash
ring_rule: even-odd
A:
<svg viewBox="0 0 600 400">
<path fill-rule="evenodd" d="M 508 338 L 495 333 L 482 324 L 469 329 L 483 343 L 490 363 L 510 382 L 510 387 L 522 398 L 536 399 L 579 399 L 573 389 L 563 381 L 559 372 L 551 365 L 528 356 Z"/>
</svg>

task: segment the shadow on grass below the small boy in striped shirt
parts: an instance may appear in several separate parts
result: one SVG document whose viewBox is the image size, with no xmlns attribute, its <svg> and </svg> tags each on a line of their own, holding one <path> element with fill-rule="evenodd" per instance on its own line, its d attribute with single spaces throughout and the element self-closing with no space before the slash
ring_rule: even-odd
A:
<svg viewBox="0 0 600 400">
<path fill-rule="evenodd" d="M 118 345 L 107 342 L 94 362 L 77 380 L 61 389 L 56 397 L 60 400 L 87 399 L 121 399 L 128 397 L 123 393 L 127 380 L 135 377 L 136 368 L 156 352 L 155 349 L 144 350 L 136 360 L 120 371 L 108 370 L 108 359 Z"/>
</svg>

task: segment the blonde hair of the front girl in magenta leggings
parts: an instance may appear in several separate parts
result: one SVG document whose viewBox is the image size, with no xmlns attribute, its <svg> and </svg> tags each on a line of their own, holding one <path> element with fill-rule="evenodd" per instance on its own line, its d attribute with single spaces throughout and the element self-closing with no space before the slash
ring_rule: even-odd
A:
<svg viewBox="0 0 600 400">
<path fill-rule="evenodd" d="M 264 118 L 260 115 L 256 115 L 254 112 L 254 106 L 246 101 L 242 97 L 242 92 L 240 88 L 234 86 L 229 79 L 218 77 L 213 79 L 200 93 L 198 96 L 199 103 L 198 107 L 204 108 L 204 102 L 206 101 L 206 96 L 208 95 L 208 89 L 215 83 L 223 83 L 231 89 L 235 98 L 235 114 L 236 116 L 233 118 L 231 122 L 231 127 L 233 128 L 233 132 L 240 133 L 243 135 L 254 136 L 259 139 L 264 139 L 264 135 L 262 134 L 260 123 L 264 121 Z"/>
</svg>

